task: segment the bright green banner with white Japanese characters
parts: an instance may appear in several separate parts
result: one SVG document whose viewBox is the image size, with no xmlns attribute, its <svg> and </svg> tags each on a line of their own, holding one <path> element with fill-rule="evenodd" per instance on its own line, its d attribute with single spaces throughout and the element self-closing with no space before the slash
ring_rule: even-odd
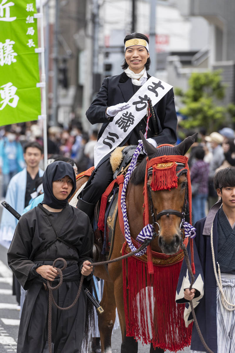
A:
<svg viewBox="0 0 235 353">
<path fill-rule="evenodd" d="M 36 0 L 0 0 L 0 126 L 41 115 Z"/>
</svg>

